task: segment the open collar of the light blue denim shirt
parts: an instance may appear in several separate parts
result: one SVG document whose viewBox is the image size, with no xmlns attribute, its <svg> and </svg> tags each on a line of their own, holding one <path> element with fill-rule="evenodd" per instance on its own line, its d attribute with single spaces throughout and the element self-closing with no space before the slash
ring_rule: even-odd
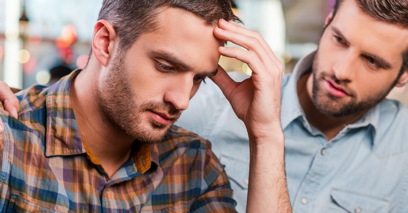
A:
<svg viewBox="0 0 408 213">
<path fill-rule="evenodd" d="M 298 117 L 303 117 L 303 119 L 306 120 L 303 109 L 301 108 L 301 105 L 299 103 L 299 98 L 297 96 L 297 82 L 299 81 L 300 76 L 302 76 L 312 68 L 315 55 L 316 51 L 299 60 L 299 62 L 293 69 L 287 85 L 284 86 L 284 90 L 282 90 L 282 105 L 285 107 L 283 107 L 281 110 L 281 122 L 282 128 L 284 130 L 291 122 L 293 122 Z M 358 121 L 350 124 L 348 128 L 361 128 L 371 125 L 373 127 L 372 134 L 374 138 L 378 126 L 379 116 L 380 104 L 377 104 L 367 113 L 365 113 L 363 117 L 361 117 Z M 373 143 L 375 143 L 375 140 L 373 141 Z"/>
</svg>

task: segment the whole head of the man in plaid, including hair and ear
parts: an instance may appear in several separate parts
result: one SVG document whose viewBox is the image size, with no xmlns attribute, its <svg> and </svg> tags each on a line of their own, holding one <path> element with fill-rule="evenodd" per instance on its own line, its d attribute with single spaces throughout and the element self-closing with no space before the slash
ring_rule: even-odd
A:
<svg viewBox="0 0 408 213">
<path fill-rule="evenodd" d="M 230 7 L 229 0 L 105 1 L 90 59 L 100 69 L 103 116 L 139 141 L 160 141 L 201 78 L 216 72 L 224 41 L 213 29 L 219 18 L 238 20 Z"/>
</svg>

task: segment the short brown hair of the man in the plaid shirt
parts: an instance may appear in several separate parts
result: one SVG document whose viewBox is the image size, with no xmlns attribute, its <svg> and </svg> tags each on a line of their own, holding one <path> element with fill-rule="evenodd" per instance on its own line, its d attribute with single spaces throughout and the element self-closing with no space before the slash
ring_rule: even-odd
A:
<svg viewBox="0 0 408 213">
<path fill-rule="evenodd" d="M 156 16 L 165 7 L 184 9 L 210 25 L 221 18 L 240 22 L 231 0 L 104 0 L 98 20 L 112 24 L 120 39 L 119 51 L 125 52 L 141 34 L 157 30 Z"/>
</svg>

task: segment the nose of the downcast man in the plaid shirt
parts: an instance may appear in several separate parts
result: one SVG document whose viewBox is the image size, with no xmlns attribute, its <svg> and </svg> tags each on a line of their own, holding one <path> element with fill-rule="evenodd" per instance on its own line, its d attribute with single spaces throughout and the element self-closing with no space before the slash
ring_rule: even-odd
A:
<svg viewBox="0 0 408 213">
<path fill-rule="evenodd" d="M 164 101 L 171 103 L 176 110 L 186 110 L 193 93 L 194 82 L 189 76 L 177 76 L 176 81 L 171 81 L 169 89 L 164 95 Z"/>
</svg>

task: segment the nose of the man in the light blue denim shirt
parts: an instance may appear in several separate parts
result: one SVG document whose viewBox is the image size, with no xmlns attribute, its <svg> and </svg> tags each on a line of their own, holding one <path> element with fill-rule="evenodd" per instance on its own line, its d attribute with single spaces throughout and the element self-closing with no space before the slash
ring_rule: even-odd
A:
<svg viewBox="0 0 408 213">
<path fill-rule="evenodd" d="M 350 82 L 354 78 L 356 67 L 356 56 L 352 51 L 346 51 L 343 54 L 338 54 L 333 71 L 337 79 L 340 81 Z"/>
</svg>

